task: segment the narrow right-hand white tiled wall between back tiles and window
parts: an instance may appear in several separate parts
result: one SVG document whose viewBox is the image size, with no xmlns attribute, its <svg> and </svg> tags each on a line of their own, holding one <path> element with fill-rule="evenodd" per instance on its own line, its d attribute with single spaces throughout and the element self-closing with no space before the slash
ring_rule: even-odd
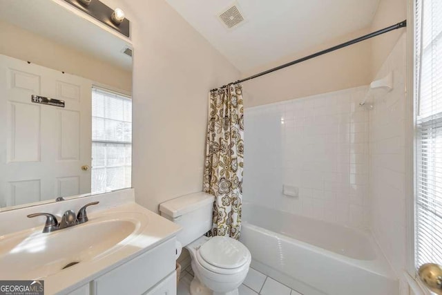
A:
<svg viewBox="0 0 442 295">
<path fill-rule="evenodd" d="M 394 89 L 376 93 L 369 112 L 370 223 L 398 277 L 407 269 L 405 169 L 411 169 L 405 165 L 406 43 L 403 34 L 378 71 L 376 79 L 393 72 Z"/>
</svg>

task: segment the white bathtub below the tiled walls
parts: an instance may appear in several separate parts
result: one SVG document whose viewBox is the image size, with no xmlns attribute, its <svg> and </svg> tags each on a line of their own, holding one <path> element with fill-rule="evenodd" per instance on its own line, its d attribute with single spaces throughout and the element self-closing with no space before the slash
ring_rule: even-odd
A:
<svg viewBox="0 0 442 295">
<path fill-rule="evenodd" d="M 369 232 L 245 203 L 240 241 L 251 267 L 301 294 L 398 294 Z"/>
</svg>

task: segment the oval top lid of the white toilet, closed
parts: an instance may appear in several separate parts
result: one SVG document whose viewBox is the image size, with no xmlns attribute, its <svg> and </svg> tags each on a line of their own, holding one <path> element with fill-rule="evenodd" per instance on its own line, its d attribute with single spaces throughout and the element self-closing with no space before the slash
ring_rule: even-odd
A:
<svg viewBox="0 0 442 295">
<path fill-rule="evenodd" d="M 215 236 L 204 242 L 199 253 L 206 263 L 224 269 L 240 267 L 250 259 L 247 247 L 238 240 L 224 236 Z"/>
</svg>

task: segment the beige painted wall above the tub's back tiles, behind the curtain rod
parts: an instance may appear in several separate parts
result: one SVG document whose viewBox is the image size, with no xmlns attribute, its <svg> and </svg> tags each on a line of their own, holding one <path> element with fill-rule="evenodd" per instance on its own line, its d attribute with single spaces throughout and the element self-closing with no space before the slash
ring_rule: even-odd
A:
<svg viewBox="0 0 442 295">
<path fill-rule="evenodd" d="M 300 57 L 311 55 L 325 48 L 361 37 L 368 32 L 369 28 L 366 28 L 329 40 L 325 44 L 294 53 L 294 55 L 284 57 L 273 64 L 256 68 L 251 73 L 242 73 L 242 77 L 248 77 L 260 73 L 262 70 L 268 70 Z M 370 41 L 364 41 L 244 82 L 244 106 L 260 106 L 367 85 L 371 80 L 371 50 Z"/>
</svg>

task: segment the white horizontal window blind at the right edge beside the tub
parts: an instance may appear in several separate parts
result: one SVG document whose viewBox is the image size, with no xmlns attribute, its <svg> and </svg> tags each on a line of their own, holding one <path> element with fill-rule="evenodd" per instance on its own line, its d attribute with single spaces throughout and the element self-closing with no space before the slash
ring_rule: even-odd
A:
<svg viewBox="0 0 442 295">
<path fill-rule="evenodd" d="M 442 1 L 416 0 L 415 263 L 442 265 Z"/>
</svg>

